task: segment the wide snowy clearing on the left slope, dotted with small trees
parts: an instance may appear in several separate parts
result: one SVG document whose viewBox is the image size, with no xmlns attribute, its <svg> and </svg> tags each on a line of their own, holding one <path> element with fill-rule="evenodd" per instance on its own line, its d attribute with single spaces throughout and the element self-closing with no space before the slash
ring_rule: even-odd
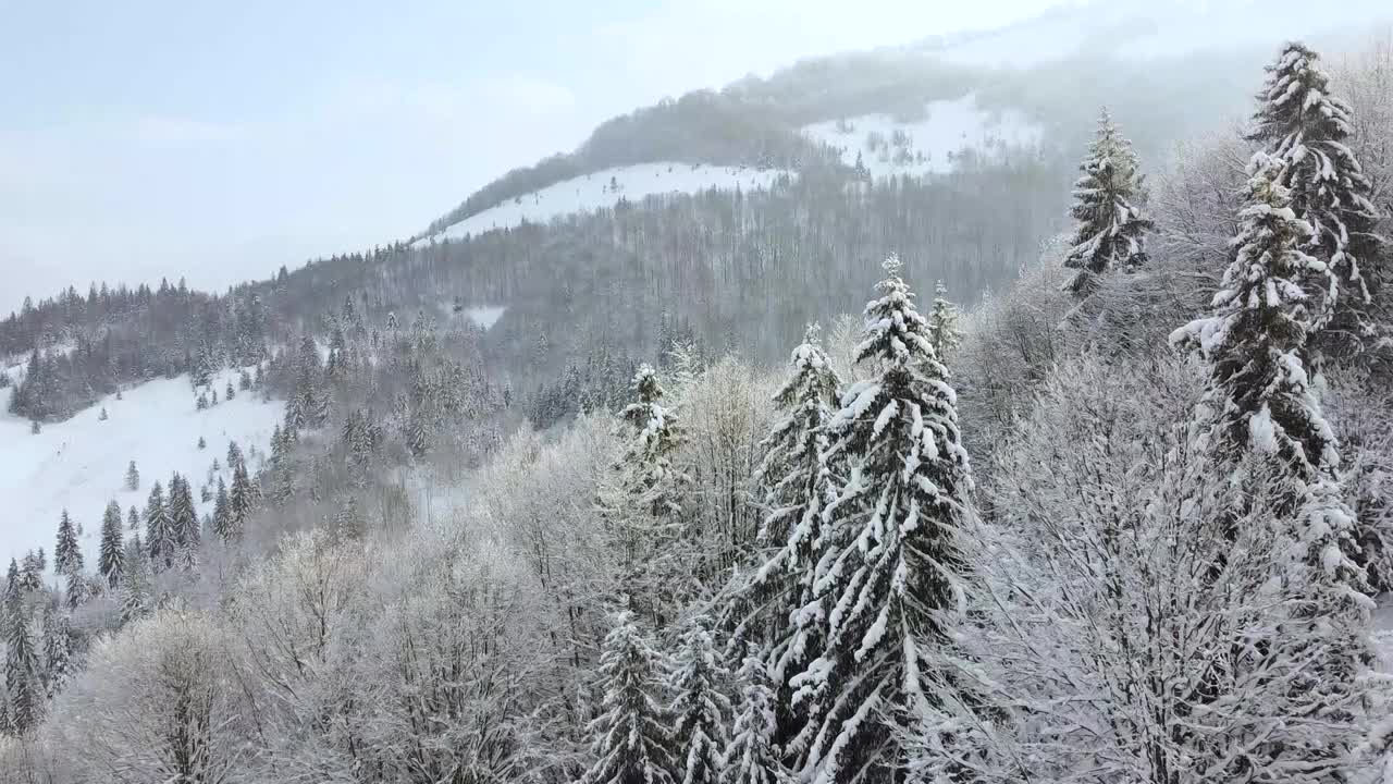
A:
<svg viewBox="0 0 1393 784">
<path fill-rule="evenodd" d="M 20 370 L 7 372 L 17 378 Z M 213 386 L 219 398 L 228 381 L 235 386 L 237 371 L 219 375 Z M 156 481 L 167 487 L 174 472 L 194 485 L 199 515 L 210 512 L 212 504 L 201 502 L 201 488 L 213 459 L 230 480 L 228 441 L 237 441 L 248 458 L 252 446 L 267 452 L 284 409 L 280 402 L 263 403 L 252 392 L 238 392 L 234 400 L 199 412 L 188 377 L 180 377 L 127 389 L 121 400 L 107 396 L 33 435 L 28 421 L 8 413 L 13 393 L 13 388 L 0 389 L 0 568 L 38 547 L 52 554 L 63 509 L 82 525 L 82 551 L 88 568 L 95 568 L 106 505 L 118 502 L 123 518 L 132 505 L 143 509 L 150 487 Z M 99 420 L 103 407 L 106 421 Z M 208 449 L 198 449 L 199 437 Z M 141 488 L 134 492 L 124 484 L 131 460 L 141 473 Z M 249 458 L 248 465 L 258 463 Z"/>
</svg>

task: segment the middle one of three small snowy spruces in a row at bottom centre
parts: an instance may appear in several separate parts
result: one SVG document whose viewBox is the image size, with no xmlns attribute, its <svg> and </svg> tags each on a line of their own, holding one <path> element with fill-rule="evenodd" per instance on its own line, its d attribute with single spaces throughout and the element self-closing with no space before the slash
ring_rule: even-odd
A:
<svg viewBox="0 0 1393 784">
<path fill-rule="evenodd" d="M 727 678 L 716 658 L 710 632 L 698 619 L 683 635 L 670 691 L 677 760 L 684 764 L 681 784 L 719 784 L 724 770 L 726 716 L 730 700 L 719 684 Z"/>
</svg>

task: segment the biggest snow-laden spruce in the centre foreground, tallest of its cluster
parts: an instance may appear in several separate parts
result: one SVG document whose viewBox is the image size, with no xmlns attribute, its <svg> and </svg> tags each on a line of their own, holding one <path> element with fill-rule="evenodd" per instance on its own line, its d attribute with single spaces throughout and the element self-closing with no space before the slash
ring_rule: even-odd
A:
<svg viewBox="0 0 1393 784">
<path fill-rule="evenodd" d="M 814 784 L 846 784 L 903 763 L 900 730 L 935 704 L 935 653 L 961 605 L 958 523 L 971 488 L 949 372 L 929 328 L 885 264 L 857 361 L 872 375 L 841 396 L 825 460 L 848 476 L 823 512 L 818 576 L 826 640 L 795 675 L 808 723 L 795 748 Z"/>
</svg>

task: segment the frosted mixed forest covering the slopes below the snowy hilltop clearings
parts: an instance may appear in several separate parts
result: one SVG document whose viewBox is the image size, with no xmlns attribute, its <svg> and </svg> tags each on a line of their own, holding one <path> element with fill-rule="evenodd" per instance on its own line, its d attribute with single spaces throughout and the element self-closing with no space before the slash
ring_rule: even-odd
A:
<svg viewBox="0 0 1393 784">
<path fill-rule="evenodd" d="M 1167 169 L 1105 112 L 1071 193 L 829 170 L 26 307 L 36 427 L 231 363 L 287 407 L 208 519 L 176 476 L 10 564 L 0 783 L 1389 780 L 1393 49 L 1251 88 Z"/>
</svg>

